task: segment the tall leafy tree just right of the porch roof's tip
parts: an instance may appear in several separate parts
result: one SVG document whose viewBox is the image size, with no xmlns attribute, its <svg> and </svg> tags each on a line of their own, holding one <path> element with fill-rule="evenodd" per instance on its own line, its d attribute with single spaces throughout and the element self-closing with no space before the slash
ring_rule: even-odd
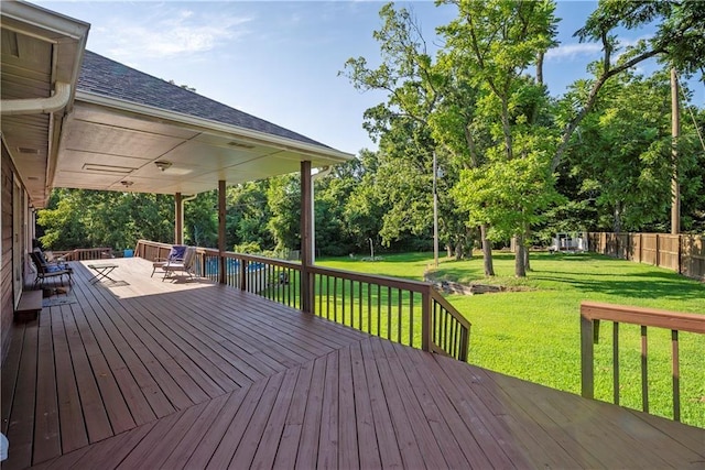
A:
<svg viewBox="0 0 705 470">
<path fill-rule="evenodd" d="M 388 3 L 380 10 L 380 18 L 383 25 L 373 36 L 380 43 L 382 64 L 372 69 L 364 57 L 350 58 L 346 76 L 360 90 L 388 92 L 387 102 L 365 112 L 365 127 L 373 139 L 380 138 L 378 197 L 390 203 L 380 234 L 389 244 L 404 233 L 421 236 L 430 231 L 432 160 L 437 145 L 429 122 L 442 100 L 448 76 L 433 63 L 409 10 L 395 10 L 393 3 Z M 448 243 L 466 239 L 467 230 L 455 222 L 456 217 L 452 207 L 442 206 L 440 219 L 448 221 L 442 223 L 442 237 Z M 486 250 L 485 255 L 487 274 L 492 275 L 491 251 Z"/>
</svg>

